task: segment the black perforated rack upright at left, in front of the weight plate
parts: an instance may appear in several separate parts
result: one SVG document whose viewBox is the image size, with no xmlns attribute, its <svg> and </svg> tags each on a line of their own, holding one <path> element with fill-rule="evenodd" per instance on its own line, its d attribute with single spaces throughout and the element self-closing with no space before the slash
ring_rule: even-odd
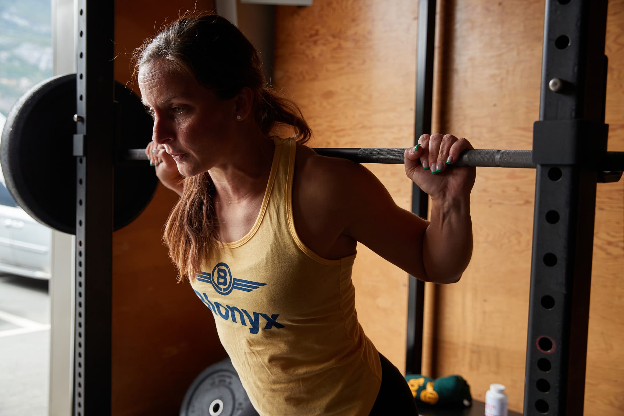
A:
<svg viewBox="0 0 624 416">
<path fill-rule="evenodd" d="M 79 0 L 74 416 L 111 414 L 114 2 Z M 87 329 L 88 324 L 88 329 Z"/>
</svg>

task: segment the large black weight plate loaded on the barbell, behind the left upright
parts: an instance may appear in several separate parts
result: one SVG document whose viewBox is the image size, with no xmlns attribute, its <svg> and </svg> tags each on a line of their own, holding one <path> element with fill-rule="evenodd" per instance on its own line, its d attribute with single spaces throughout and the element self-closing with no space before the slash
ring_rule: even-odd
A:
<svg viewBox="0 0 624 416">
<path fill-rule="evenodd" d="M 139 97 L 115 82 L 115 100 L 119 117 L 111 122 L 120 132 L 118 152 L 145 147 L 152 119 Z M 12 107 L 0 142 L 2 173 L 17 204 L 40 223 L 69 234 L 76 233 L 74 114 L 76 74 L 45 80 Z M 147 162 L 117 163 L 114 172 L 114 229 L 119 230 L 144 210 L 158 181 Z"/>
</svg>

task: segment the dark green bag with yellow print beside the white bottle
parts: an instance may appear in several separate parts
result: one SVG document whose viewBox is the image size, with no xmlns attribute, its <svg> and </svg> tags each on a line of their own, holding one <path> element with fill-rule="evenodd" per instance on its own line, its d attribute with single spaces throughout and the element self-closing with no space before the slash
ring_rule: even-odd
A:
<svg viewBox="0 0 624 416">
<path fill-rule="evenodd" d="M 418 404 L 454 407 L 470 407 L 470 386 L 461 375 L 449 375 L 432 379 L 421 374 L 405 376 L 409 389 Z"/>
</svg>

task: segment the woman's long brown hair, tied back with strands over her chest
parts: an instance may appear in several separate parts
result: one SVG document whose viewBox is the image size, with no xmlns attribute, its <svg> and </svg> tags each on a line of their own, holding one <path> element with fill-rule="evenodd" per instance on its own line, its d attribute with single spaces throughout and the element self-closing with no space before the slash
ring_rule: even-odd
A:
<svg viewBox="0 0 624 416">
<path fill-rule="evenodd" d="M 301 110 L 266 85 L 260 57 L 251 42 L 227 19 L 213 13 L 188 12 L 163 27 L 134 52 L 135 75 L 160 61 L 170 70 L 192 77 L 223 100 L 243 88 L 253 91 L 253 117 L 264 136 L 290 126 L 298 142 L 311 137 Z M 164 240 L 179 270 L 178 281 L 195 280 L 202 259 L 217 249 L 220 238 L 212 206 L 213 183 L 208 172 L 184 179 L 183 193 L 165 225 Z"/>
</svg>

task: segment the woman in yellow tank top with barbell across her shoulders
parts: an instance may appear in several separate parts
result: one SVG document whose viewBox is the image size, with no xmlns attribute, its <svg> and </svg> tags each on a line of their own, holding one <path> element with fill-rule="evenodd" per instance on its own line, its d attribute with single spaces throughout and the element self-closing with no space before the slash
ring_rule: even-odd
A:
<svg viewBox="0 0 624 416">
<path fill-rule="evenodd" d="M 135 59 L 154 117 L 146 153 L 180 195 L 164 239 L 215 317 L 255 408 L 243 414 L 416 415 L 358 323 L 351 266 L 359 241 L 419 279 L 459 280 L 475 170 L 450 167 L 470 144 L 423 135 L 406 150 L 407 177 L 432 198 L 429 223 L 358 163 L 304 145 L 300 110 L 265 87 L 257 52 L 226 19 L 183 16 Z M 285 127 L 295 136 L 275 135 Z"/>
</svg>

